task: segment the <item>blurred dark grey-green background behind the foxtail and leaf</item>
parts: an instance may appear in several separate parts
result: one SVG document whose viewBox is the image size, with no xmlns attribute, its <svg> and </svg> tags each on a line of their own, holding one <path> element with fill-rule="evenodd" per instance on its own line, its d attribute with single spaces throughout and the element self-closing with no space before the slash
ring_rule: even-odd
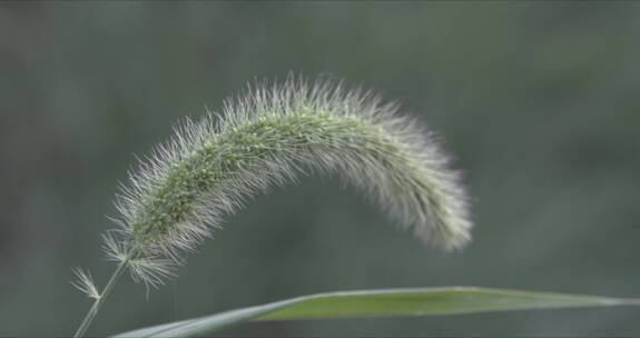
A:
<svg viewBox="0 0 640 338">
<path fill-rule="evenodd" d="M 439 131 L 474 241 L 422 247 L 338 182 L 303 178 L 230 217 L 92 335 L 311 292 L 475 285 L 640 296 L 640 4 L 0 3 L 0 336 L 66 336 L 104 285 L 99 232 L 134 153 L 255 78 L 334 74 Z M 249 324 L 228 336 L 640 336 L 640 310 Z"/>
</svg>

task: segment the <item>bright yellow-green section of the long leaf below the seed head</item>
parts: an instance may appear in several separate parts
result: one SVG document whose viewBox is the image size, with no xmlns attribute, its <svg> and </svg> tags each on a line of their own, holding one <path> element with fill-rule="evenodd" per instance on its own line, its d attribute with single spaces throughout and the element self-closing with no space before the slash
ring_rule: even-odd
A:
<svg viewBox="0 0 640 338">
<path fill-rule="evenodd" d="M 400 289 L 322 295 L 266 314 L 258 320 L 378 316 L 443 316 L 536 308 L 614 306 L 620 300 L 481 288 Z"/>
</svg>

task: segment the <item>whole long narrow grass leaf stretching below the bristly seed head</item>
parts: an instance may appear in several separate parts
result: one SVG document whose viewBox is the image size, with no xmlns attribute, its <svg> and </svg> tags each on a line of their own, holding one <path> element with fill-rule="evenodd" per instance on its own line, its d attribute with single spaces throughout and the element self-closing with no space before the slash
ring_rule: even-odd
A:
<svg viewBox="0 0 640 338">
<path fill-rule="evenodd" d="M 476 287 L 362 290 L 317 294 L 211 316 L 148 327 L 116 337 L 194 337 L 249 320 L 443 316 L 491 311 L 638 306 L 638 299 Z"/>
</svg>

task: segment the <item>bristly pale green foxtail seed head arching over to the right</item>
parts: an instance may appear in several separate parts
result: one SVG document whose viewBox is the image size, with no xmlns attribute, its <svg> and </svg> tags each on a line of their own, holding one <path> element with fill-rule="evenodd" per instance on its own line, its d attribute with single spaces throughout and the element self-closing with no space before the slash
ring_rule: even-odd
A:
<svg viewBox="0 0 640 338">
<path fill-rule="evenodd" d="M 161 284 L 246 198 L 304 170 L 338 176 L 424 242 L 462 247 L 472 222 L 459 175 L 396 110 L 371 92 L 291 77 L 250 87 L 220 115 L 184 120 L 122 185 L 120 227 L 104 236 L 108 258 L 126 261 L 136 280 Z"/>
</svg>

